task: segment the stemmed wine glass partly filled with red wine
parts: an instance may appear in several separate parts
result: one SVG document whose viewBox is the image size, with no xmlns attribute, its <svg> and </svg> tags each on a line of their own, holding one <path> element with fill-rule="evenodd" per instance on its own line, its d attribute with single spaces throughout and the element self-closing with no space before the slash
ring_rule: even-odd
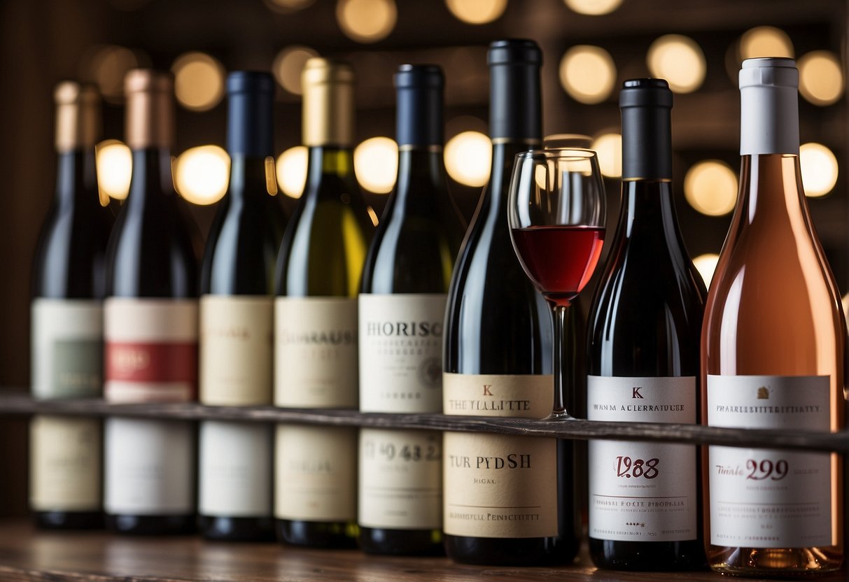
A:
<svg viewBox="0 0 849 582">
<path fill-rule="evenodd" d="M 593 276 L 604 243 L 604 182 L 591 149 L 531 149 L 516 155 L 508 221 L 519 262 L 554 316 L 554 410 L 565 407 L 566 310 Z"/>
</svg>

